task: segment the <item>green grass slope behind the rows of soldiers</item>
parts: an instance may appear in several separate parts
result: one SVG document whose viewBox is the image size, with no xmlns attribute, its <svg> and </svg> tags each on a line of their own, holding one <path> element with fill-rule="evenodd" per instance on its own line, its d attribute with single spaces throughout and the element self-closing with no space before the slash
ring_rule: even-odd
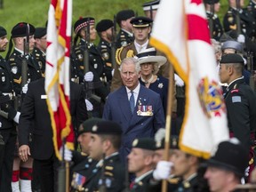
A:
<svg viewBox="0 0 256 192">
<path fill-rule="evenodd" d="M 50 0 L 0 0 L 4 7 L 0 9 L 0 25 L 10 36 L 12 27 L 20 21 L 44 27 L 47 20 Z M 141 5 L 150 0 L 73 0 L 73 23 L 80 16 L 92 16 L 96 22 L 102 19 L 113 19 L 114 14 L 122 9 L 132 9 L 138 15 L 144 15 Z M 180 1 L 180 0 L 177 0 Z M 244 4 L 248 4 L 245 0 Z M 228 0 L 220 0 L 220 20 L 228 10 Z M 166 19 L 167 20 L 167 19 Z"/>
</svg>

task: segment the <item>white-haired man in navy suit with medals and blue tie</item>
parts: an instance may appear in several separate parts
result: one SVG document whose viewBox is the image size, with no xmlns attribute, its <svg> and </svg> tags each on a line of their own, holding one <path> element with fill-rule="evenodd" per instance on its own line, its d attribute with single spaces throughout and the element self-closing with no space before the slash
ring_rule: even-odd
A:
<svg viewBox="0 0 256 192">
<path fill-rule="evenodd" d="M 135 138 L 154 137 L 165 126 L 164 109 L 159 94 L 140 85 L 140 64 L 126 58 L 120 66 L 124 86 L 108 95 L 103 118 L 121 124 L 123 143 L 121 156 L 130 153 Z"/>
</svg>

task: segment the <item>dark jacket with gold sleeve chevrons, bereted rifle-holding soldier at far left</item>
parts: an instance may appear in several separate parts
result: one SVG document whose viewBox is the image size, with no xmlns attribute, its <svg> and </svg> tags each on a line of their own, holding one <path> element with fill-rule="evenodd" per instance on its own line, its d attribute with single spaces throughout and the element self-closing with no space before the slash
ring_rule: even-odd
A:
<svg viewBox="0 0 256 192">
<path fill-rule="evenodd" d="M 41 70 L 33 56 L 28 55 L 24 58 L 21 52 L 14 50 L 9 58 L 9 64 L 13 76 L 13 86 L 16 94 L 21 92 L 21 66 L 22 60 L 28 63 L 28 83 L 42 78 Z"/>
</svg>

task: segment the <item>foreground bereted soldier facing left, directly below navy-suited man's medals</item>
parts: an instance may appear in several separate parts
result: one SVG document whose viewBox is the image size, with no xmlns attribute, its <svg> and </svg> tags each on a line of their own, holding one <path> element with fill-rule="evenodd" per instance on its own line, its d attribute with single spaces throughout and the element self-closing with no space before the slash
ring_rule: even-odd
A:
<svg viewBox="0 0 256 192">
<path fill-rule="evenodd" d="M 153 161 L 155 140 L 149 138 L 135 139 L 132 142 L 131 153 L 128 158 L 128 171 L 135 173 L 135 180 L 130 188 L 132 192 L 148 191 L 149 180 L 152 178 L 156 166 Z"/>
</svg>

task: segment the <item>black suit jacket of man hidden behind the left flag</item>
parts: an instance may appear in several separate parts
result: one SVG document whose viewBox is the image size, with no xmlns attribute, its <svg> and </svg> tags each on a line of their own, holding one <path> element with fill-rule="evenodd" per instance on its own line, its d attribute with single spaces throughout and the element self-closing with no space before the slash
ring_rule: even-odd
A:
<svg viewBox="0 0 256 192">
<path fill-rule="evenodd" d="M 82 124 L 87 119 L 83 87 L 70 82 L 70 114 L 72 122 Z M 19 124 L 19 144 L 28 145 L 28 135 L 32 130 L 31 155 L 35 159 L 46 160 L 52 156 L 52 125 L 45 95 L 44 79 L 28 84 L 28 92 L 23 100 Z M 32 124 L 34 123 L 33 127 Z"/>
</svg>

